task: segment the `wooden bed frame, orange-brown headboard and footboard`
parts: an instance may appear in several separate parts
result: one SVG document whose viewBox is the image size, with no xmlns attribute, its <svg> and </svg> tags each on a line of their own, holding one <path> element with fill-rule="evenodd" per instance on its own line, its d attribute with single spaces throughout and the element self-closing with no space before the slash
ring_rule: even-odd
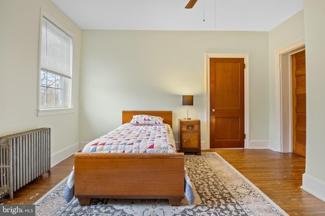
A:
<svg viewBox="0 0 325 216">
<path fill-rule="evenodd" d="M 164 118 L 172 126 L 172 111 L 122 111 L 122 123 L 133 115 Z M 76 153 L 75 197 L 81 205 L 91 198 L 184 198 L 184 153 Z"/>
</svg>

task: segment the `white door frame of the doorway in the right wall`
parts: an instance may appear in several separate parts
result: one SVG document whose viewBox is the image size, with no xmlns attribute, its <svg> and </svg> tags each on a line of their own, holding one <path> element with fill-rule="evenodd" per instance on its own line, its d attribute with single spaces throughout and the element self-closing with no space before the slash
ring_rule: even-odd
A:
<svg viewBox="0 0 325 216">
<path fill-rule="evenodd" d="M 305 40 L 300 40 L 275 51 L 275 151 L 293 152 L 293 85 L 291 77 L 291 55 L 303 50 L 305 50 Z"/>
</svg>

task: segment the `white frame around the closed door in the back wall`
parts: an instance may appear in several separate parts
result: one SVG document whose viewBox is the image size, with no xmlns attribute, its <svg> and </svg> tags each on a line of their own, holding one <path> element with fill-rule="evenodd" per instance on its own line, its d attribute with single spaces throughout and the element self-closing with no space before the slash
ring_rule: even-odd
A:
<svg viewBox="0 0 325 216">
<path fill-rule="evenodd" d="M 206 142 L 203 149 L 210 149 L 210 58 L 243 58 L 245 64 L 245 129 L 246 139 L 244 140 L 244 148 L 249 148 L 249 65 L 248 54 L 229 54 L 229 53 L 206 53 L 205 54 L 205 132 Z"/>
</svg>

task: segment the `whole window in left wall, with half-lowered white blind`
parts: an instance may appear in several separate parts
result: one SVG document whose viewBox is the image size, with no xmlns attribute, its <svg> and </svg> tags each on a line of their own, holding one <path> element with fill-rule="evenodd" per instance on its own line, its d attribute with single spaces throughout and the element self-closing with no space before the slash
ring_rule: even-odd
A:
<svg viewBox="0 0 325 216">
<path fill-rule="evenodd" d="M 40 110 L 71 108 L 72 37 L 42 19 Z"/>
</svg>

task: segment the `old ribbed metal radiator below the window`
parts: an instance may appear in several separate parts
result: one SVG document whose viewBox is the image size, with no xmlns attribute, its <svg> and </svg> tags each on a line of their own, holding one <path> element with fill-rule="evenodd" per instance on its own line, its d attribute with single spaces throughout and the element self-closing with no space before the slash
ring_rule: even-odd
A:
<svg viewBox="0 0 325 216">
<path fill-rule="evenodd" d="M 51 172 L 51 128 L 0 137 L 0 197 Z"/>
</svg>

